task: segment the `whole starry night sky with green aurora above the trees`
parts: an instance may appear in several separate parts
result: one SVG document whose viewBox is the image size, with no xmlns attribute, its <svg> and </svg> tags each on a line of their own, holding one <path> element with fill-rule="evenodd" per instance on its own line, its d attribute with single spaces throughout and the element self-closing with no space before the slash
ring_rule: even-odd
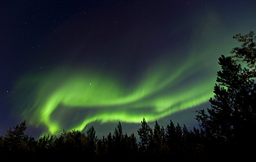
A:
<svg viewBox="0 0 256 162">
<path fill-rule="evenodd" d="M 197 126 L 256 1 L 1 1 L 0 135 Z"/>
</svg>

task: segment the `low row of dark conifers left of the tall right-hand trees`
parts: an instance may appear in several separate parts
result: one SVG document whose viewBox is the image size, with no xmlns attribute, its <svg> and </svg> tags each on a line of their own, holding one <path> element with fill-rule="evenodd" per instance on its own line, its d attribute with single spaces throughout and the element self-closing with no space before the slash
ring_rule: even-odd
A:
<svg viewBox="0 0 256 162">
<path fill-rule="evenodd" d="M 117 155 L 127 158 L 183 156 L 183 159 L 192 159 L 209 154 L 210 148 L 207 147 L 212 145 L 203 130 L 197 128 L 188 130 L 185 124 L 174 125 L 172 121 L 165 128 L 156 121 L 154 128 L 150 128 L 147 121 L 143 119 L 141 128 L 138 129 L 138 141 L 134 133 L 122 132 L 120 122 L 112 134 L 109 132 L 101 139 L 95 135 L 93 126 L 85 133 L 77 130 L 63 131 L 60 136 L 47 134 L 37 140 L 25 134 L 25 130 L 26 121 L 0 137 L 0 156 L 35 159 L 53 156 L 62 158 L 73 156 L 107 158 Z"/>
</svg>

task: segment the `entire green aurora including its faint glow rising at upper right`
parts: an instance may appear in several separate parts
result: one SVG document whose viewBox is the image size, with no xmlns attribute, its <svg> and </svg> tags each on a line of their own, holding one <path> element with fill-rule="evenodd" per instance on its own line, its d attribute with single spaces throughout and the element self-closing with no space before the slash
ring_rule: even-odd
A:
<svg viewBox="0 0 256 162">
<path fill-rule="evenodd" d="M 42 134 L 60 134 L 63 129 L 82 131 L 95 121 L 140 123 L 143 117 L 156 121 L 206 103 L 213 97 L 217 58 L 228 54 L 234 43 L 219 41 L 210 32 L 222 30 L 213 15 L 199 26 L 208 37 L 191 40 L 182 56 L 182 47 L 165 50 L 161 59 L 138 70 L 129 84 L 114 70 L 90 65 L 56 65 L 51 71 L 24 74 L 16 85 L 22 94 L 17 97 L 15 114 L 29 125 L 44 128 Z"/>
</svg>

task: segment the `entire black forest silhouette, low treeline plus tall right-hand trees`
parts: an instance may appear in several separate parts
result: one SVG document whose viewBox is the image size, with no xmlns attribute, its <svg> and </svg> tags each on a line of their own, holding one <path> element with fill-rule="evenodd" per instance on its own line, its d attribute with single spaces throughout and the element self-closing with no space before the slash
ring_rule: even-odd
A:
<svg viewBox="0 0 256 162">
<path fill-rule="evenodd" d="M 63 131 L 60 136 L 45 134 L 39 139 L 25 134 L 26 121 L 0 136 L 0 156 L 8 159 L 250 159 L 256 144 L 256 45 L 255 33 L 236 34 L 240 47 L 231 56 L 219 57 L 211 107 L 197 111 L 198 128 L 185 124 L 150 128 L 142 119 L 134 133 L 122 131 L 119 122 L 113 133 L 98 138 L 93 126 L 86 132 Z M 3 159 L 2 158 L 2 159 Z"/>
</svg>

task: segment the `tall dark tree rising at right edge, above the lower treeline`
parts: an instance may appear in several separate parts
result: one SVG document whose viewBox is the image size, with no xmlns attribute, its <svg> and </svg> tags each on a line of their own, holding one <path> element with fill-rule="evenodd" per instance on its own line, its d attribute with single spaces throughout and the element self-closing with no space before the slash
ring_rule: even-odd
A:
<svg viewBox="0 0 256 162">
<path fill-rule="evenodd" d="M 249 32 L 234 39 L 242 45 L 219 57 L 211 108 L 199 110 L 196 119 L 208 137 L 244 150 L 256 143 L 256 37 Z"/>
</svg>

